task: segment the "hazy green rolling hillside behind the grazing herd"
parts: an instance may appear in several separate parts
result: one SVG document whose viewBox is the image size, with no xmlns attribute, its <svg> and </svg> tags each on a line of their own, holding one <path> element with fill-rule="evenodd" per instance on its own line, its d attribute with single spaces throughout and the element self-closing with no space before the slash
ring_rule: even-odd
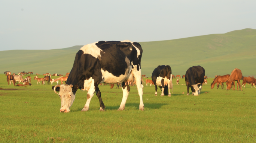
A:
<svg viewBox="0 0 256 143">
<path fill-rule="evenodd" d="M 143 48 L 142 73 L 149 77 L 163 64 L 170 65 L 175 75 L 183 75 L 189 67 L 197 65 L 204 67 L 209 77 L 230 74 L 235 68 L 241 69 L 244 76 L 256 75 L 256 29 L 139 43 Z M 81 47 L 0 51 L 0 73 L 65 74 L 71 70 Z"/>
</svg>

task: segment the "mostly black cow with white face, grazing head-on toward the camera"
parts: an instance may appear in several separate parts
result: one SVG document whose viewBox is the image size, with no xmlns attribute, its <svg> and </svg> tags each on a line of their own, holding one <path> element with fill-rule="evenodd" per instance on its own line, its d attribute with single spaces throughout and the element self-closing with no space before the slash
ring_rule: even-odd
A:
<svg viewBox="0 0 256 143">
<path fill-rule="evenodd" d="M 189 88 L 192 90 L 192 95 L 199 95 L 202 89 L 202 83 L 204 82 L 205 70 L 201 66 L 190 67 L 185 74 L 185 81 L 189 95 Z"/>
</svg>

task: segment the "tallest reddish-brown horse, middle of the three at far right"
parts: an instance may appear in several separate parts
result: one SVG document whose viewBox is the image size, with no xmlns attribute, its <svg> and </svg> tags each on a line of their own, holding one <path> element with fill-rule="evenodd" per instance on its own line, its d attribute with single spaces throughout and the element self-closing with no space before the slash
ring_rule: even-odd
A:
<svg viewBox="0 0 256 143">
<path fill-rule="evenodd" d="M 228 81 L 226 82 L 227 90 L 231 89 L 232 82 L 234 83 L 234 81 L 237 81 L 237 90 L 238 90 L 238 84 L 239 84 L 241 91 L 243 91 L 241 88 L 241 84 L 240 84 L 240 80 L 242 78 L 243 78 L 242 71 L 240 69 L 235 68 L 232 71 L 232 73 L 230 74 Z M 234 86 L 235 86 L 235 84 L 234 84 Z M 235 90 L 235 89 L 233 89 L 233 90 Z"/>
</svg>

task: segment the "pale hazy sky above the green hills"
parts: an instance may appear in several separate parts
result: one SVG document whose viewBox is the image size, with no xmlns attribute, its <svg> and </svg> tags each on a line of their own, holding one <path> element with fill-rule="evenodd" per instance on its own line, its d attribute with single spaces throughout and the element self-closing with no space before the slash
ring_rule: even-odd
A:
<svg viewBox="0 0 256 143">
<path fill-rule="evenodd" d="M 0 51 L 256 29 L 256 0 L 1 0 Z"/>
</svg>

